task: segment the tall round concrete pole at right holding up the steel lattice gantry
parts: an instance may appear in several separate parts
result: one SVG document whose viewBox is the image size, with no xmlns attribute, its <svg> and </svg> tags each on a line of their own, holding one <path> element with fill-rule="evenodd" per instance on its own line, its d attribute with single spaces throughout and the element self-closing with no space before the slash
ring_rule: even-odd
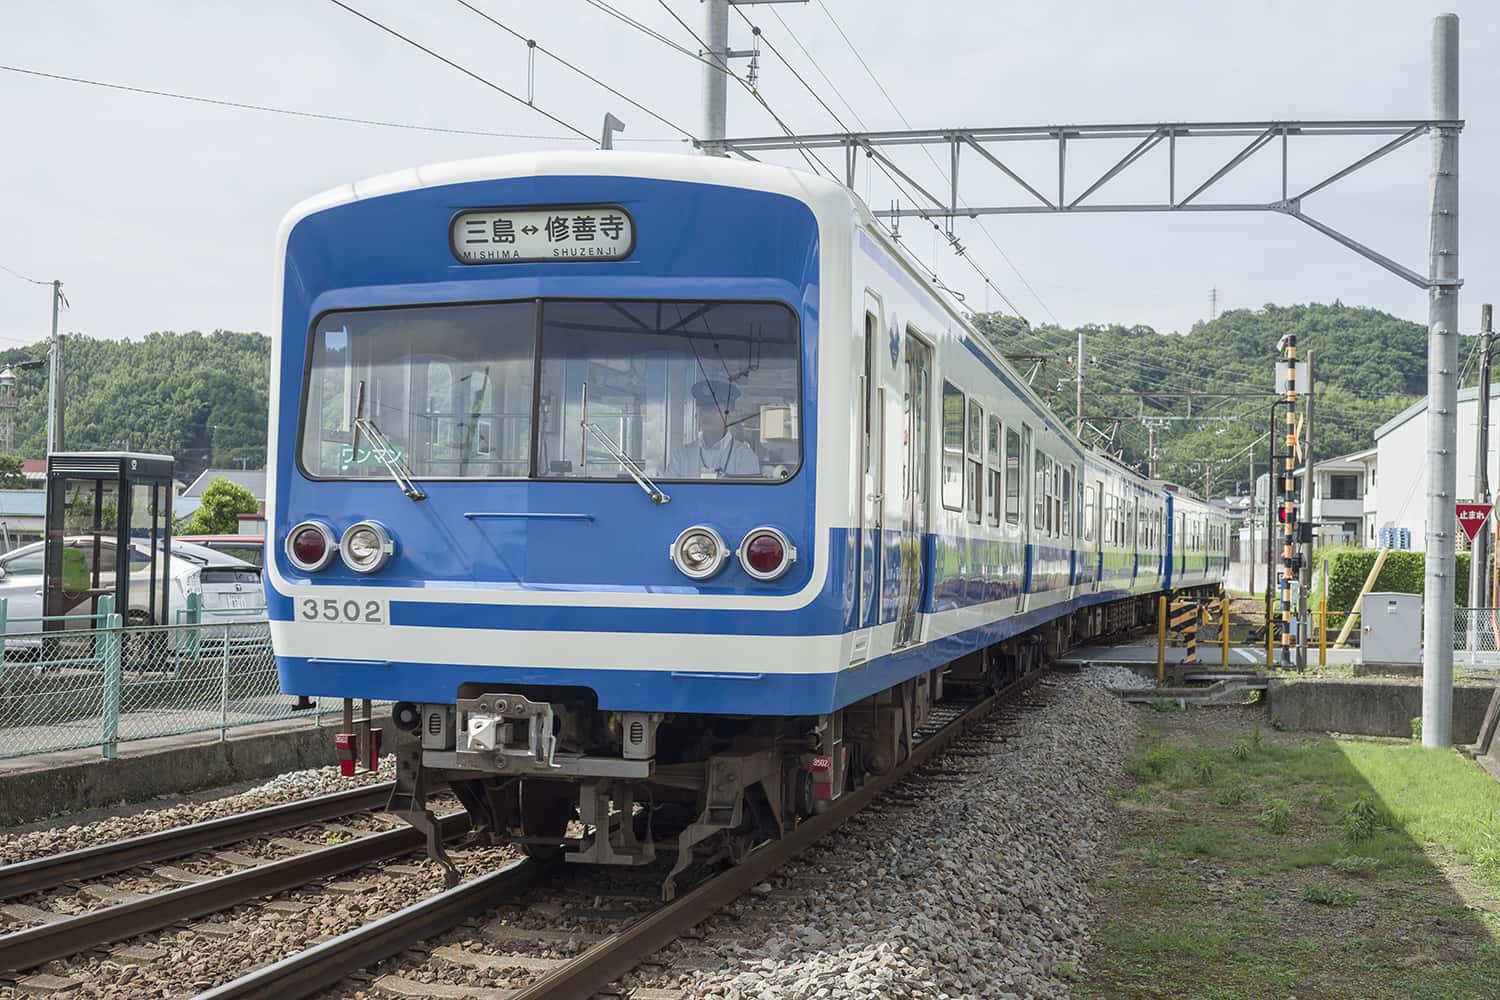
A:
<svg viewBox="0 0 1500 1000">
<path fill-rule="evenodd" d="M 1432 118 L 1458 118 L 1458 15 L 1432 21 Z M 1422 745 L 1454 742 L 1454 493 L 1458 489 L 1458 129 L 1432 130 L 1426 336 Z"/>
</svg>

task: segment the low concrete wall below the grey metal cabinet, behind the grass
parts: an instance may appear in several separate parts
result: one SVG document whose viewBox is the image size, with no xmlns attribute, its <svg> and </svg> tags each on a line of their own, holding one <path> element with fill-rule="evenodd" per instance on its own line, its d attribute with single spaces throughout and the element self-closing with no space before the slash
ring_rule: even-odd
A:
<svg viewBox="0 0 1500 1000">
<path fill-rule="evenodd" d="M 1472 744 L 1490 708 L 1494 684 L 1454 687 L 1454 742 Z M 1422 715 L 1420 681 L 1272 681 L 1268 691 L 1270 723 L 1282 729 L 1352 733 L 1359 736 L 1412 736 L 1412 720 Z"/>
</svg>

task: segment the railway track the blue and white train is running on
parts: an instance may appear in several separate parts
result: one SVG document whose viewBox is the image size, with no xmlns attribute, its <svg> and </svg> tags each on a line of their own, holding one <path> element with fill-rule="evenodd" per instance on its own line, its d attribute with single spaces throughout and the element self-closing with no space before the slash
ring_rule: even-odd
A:
<svg viewBox="0 0 1500 1000">
<path fill-rule="evenodd" d="M 603 922 L 624 922 L 618 930 L 556 930 L 526 928 L 514 919 L 478 921 L 472 937 L 482 939 L 484 948 L 472 949 L 464 945 L 440 945 L 429 952 L 429 960 L 466 970 L 476 976 L 528 976 L 524 984 L 508 982 L 506 987 L 448 985 L 430 981 L 416 981 L 404 975 L 382 975 L 370 984 L 375 993 L 390 997 L 474 997 L 478 1000 L 586 1000 L 620 981 L 654 952 L 670 945 L 722 910 L 724 906 L 764 882 L 771 873 L 802 855 L 819 840 L 838 829 L 878 798 L 888 795 L 914 772 L 933 763 L 956 744 L 990 718 L 998 709 L 1022 697 L 1042 676 L 1035 672 L 996 694 L 974 703 L 945 703 L 933 709 L 910 757 L 891 774 L 872 780 L 861 789 L 844 795 L 830 811 L 801 823 L 788 837 L 765 844 L 736 867 L 710 877 L 676 900 L 662 904 L 652 901 L 639 912 L 602 912 Z M 908 796 L 920 802 L 920 795 Z M 338 987 L 352 975 L 400 955 L 420 942 L 440 937 L 460 925 L 476 924 L 476 918 L 496 909 L 520 906 L 526 894 L 538 885 L 548 885 L 560 876 L 566 865 L 548 865 L 537 861 L 520 861 L 507 868 L 465 882 L 447 892 L 434 895 L 390 916 L 302 951 L 282 961 L 264 966 L 238 979 L 226 982 L 201 994 L 204 1000 L 291 1000 L 309 997 Z M 573 870 L 576 873 L 576 870 Z M 567 876 L 562 876 L 567 879 Z M 615 876 L 615 882 L 620 882 Z M 591 889 L 573 886 L 585 895 Z M 614 895 L 621 895 L 618 888 Z M 628 897 L 628 891 L 624 894 Z M 639 897 L 644 903 L 644 897 Z M 532 907 L 538 910 L 540 907 Z M 579 910 L 568 912 L 552 904 L 556 913 L 584 918 Z M 512 918 L 516 913 L 512 910 Z M 558 958 L 558 951 L 576 949 L 576 954 Z M 537 955 L 538 951 L 550 952 Z M 675 1000 L 682 994 L 670 990 L 634 990 L 634 1000 Z"/>
</svg>

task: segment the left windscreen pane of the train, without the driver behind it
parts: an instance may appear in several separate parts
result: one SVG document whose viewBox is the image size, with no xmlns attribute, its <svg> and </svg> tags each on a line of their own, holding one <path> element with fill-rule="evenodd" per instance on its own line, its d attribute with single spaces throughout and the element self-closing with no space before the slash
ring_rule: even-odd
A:
<svg viewBox="0 0 1500 1000">
<path fill-rule="evenodd" d="M 387 478 L 382 459 L 396 457 L 418 480 L 525 477 L 536 340 L 531 301 L 322 315 L 312 334 L 303 469 L 314 478 Z M 370 426 L 394 456 L 370 441 Z"/>
</svg>

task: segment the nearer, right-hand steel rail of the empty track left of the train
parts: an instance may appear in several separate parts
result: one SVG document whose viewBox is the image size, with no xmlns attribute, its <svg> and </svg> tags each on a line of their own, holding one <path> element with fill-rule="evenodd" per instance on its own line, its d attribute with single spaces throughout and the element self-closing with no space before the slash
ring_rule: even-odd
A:
<svg viewBox="0 0 1500 1000">
<path fill-rule="evenodd" d="M 470 819 L 466 813 L 448 813 L 441 817 L 440 823 L 444 840 L 448 840 L 468 831 Z M 422 849 L 424 843 L 423 835 L 411 828 L 372 834 L 345 844 L 321 847 L 256 868 L 160 892 L 144 900 L 120 903 L 4 934 L 0 936 L 0 970 L 32 969 L 54 958 L 76 955 L 110 942 L 156 931 L 178 921 L 228 910 L 242 903 L 285 892 L 326 876 L 408 855 Z"/>
</svg>

